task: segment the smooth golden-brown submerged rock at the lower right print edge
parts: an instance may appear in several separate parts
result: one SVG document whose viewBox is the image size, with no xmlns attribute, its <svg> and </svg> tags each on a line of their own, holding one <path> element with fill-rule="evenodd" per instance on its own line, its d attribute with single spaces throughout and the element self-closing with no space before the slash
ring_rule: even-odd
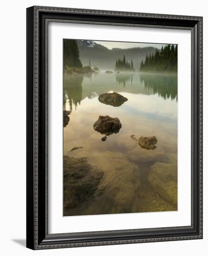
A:
<svg viewBox="0 0 208 256">
<path fill-rule="evenodd" d="M 148 175 L 152 189 L 177 208 L 177 164 L 156 162 Z"/>
</svg>

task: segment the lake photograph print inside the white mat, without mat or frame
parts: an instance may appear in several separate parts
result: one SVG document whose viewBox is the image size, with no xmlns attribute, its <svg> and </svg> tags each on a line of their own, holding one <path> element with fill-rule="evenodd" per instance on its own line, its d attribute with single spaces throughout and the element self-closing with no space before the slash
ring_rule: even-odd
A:
<svg viewBox="0 0 208 256">
<path fill-rule="evenodd" d="M 63 39 L 63 216 L 177 211 L 177 45 Z"/>
</svg>

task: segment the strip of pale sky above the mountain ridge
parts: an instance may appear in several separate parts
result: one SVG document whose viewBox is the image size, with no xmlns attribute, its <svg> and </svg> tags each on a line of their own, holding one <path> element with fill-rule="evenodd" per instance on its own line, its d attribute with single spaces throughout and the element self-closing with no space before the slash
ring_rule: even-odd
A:
<svg viewBox="0 0 208 256">
<path fill-rule="evenodd" d="M 156 47 L 158 49 L 161 49 L 162 46 L 165 46 L 165 44 L 152 44 L 152 43 L 128 43 L 128 42 L 110 42 L 110 41 L 95 41 L 97 44 L 101 44 L 108 49 L 112 48 L 133 48 L 133 47 Z"/>
</svg>

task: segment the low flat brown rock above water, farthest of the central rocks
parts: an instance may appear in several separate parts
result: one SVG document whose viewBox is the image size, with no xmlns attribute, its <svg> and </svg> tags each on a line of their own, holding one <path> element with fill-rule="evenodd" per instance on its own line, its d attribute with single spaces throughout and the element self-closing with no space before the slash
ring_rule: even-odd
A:
<svg viewBox="0 0 208 256">
<path fill-rule="evenodd" d="M 113 107 L 120 107 L 125 101 L 128 101 L 126 97 L 115 92 L 100 94 L 98 97 L 98 100 L 101 103 L 104 103 L 106 105 L 111 105 Z"/>
</svg>

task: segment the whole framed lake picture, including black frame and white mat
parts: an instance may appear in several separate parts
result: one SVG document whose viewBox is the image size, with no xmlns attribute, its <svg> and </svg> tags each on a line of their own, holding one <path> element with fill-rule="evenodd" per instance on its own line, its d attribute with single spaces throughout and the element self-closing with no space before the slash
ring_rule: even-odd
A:
<svg viewBox="0 0 208 256">
<path fill-rule="evenodd" d="M 202 238 L 202 17 L 27 8 L 27 247 Z"/>
</svg>

